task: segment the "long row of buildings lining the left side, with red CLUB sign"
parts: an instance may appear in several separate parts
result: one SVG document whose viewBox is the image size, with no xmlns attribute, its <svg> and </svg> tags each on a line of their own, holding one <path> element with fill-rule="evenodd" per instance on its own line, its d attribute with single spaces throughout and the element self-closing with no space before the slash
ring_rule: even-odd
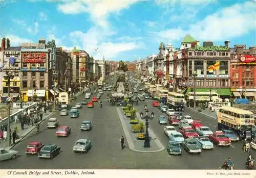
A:
<svg viewBox="0 0 256 178">
<path fill-rule="evenodd" d="M 3 38 L 0 63 L 1 99 L 8 96 L 9 86 L 10 95 L 25 102 L 35 94 L 38 100 L 48 100 L 61 91 L 74 92 L 97 83 L 110 72 L 104 58 L 94 60 L 86 50 L 75 47 L 67 52 L 57 47 L 54 40 L 46 42 L 45 39 L 10 46 L 10 40 Z M 11 77 L 9 83 L 7 74 Z"/>
</svg>

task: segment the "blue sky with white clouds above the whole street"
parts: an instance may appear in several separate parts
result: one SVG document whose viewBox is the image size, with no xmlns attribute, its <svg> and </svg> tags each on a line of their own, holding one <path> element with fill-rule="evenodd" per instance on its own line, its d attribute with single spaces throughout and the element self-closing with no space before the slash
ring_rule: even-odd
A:
<svg viewBox="0 0 256 178">
<path fill-rule="evenodd" d="M 178 48 L 186 34 L 223 45 L 256 44 L 253 0 L 0 0 L 0 37 L 11 46 L 55 39 L 95 59 L 133 61 Z M 98 48 L 96 51 L 95 48 Z"/>
</svg>

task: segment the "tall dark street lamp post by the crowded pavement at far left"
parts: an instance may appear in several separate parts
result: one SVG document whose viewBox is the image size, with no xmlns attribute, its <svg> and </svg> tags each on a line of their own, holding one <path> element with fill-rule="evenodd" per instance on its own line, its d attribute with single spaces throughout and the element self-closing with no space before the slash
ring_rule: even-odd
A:
<svg viewBox="0 0 256 178">
<path fill-rule="evenodd" d="M 6 75 L 4 75 L 4 79 L 8 81 L 8 125 L 7 125 L 7 138 L 9 142 L 9 146 L 12 145 L 11 142 L 11 122 L 10 122 L 10 111 L 11 111 L 11 99 L 10 97 L 10 81 L 14 78 L 14 75 L 11 72 L 6 72 Z"/>
</svg>

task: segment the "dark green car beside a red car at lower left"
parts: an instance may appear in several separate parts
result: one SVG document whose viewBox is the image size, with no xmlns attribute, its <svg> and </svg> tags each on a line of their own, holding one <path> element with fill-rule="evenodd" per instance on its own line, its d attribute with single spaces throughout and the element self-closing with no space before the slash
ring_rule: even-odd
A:
<svg viewBox="0 0 256 178">
<path fill-rule="evenodd" d="M 57 145 L 45 145 L 38 152 L 38 157 L 41 158 L 49 158 L 53 159 L 60 152 L 60 146 Z"/>
</svg>

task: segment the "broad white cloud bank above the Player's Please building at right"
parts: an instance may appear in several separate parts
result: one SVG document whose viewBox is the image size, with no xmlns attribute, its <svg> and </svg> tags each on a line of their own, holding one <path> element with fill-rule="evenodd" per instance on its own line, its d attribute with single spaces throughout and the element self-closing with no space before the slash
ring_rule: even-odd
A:
<svg viewBox="0 0 256 178">
<path fill-rule="evenodd" d="M 155 32 L 156 39 L 160 37 L 165 40 L 181 40 L 185 34 L 191 34 L 197 40 L 224 41 L 254 30 L 254 14 L 253 2 L 235 4 L 191 24 L 188 30 L 178 28 Z"/>
</svg>

